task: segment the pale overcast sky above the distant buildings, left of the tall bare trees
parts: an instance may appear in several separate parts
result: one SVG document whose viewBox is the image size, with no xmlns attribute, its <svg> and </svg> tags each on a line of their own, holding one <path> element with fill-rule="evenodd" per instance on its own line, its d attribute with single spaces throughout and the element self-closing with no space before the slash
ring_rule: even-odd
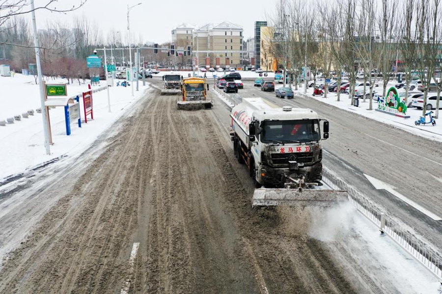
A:
<svg viewBox="0 0 442 294">
<path fill-rule="evenodd" d="M 42 4 L 47 0 L 35 0 Z M 83 7 L 67 15 L 37 11 L 37 25 L 46 20 L 59 19 L 70 22 L 73 15 L 85 14 L 97 21 L 106 39 L 109 29 L 127 29 L 127 4 L 142 4 L 131 10 L 131 32 L 143 37 L 143 41 L 164 43 L 171 41 L 171 30 L 182 23 L 202 26 L 207 23 L 229 21 L 244 28 L 244 36 L 252 37 L 254 22 L 265 20 L 276 0 L 87 0 Z M 61 4 L 60 4 L 61 3 Z M 80 3 L 80 0 L 62 0 L 63 8 Z M 39 25 L 40 26 L 40 25 Z"/>
</svg>

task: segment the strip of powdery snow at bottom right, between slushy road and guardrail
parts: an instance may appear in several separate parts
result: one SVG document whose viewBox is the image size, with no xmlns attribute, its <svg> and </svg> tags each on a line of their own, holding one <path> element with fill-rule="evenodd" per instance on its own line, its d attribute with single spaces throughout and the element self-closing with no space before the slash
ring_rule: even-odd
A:
<svg viewBox="0 0 442 294">
<path fill-rule="evenodd" d="M 392 289 L 401 294 L 442 293 L 435 276 L 392 239 L 381 236 L 378 228 L 351 203 L 315 215 L 322 217 L 312 219 L 308 234 L 329 244 L 333 258 L 347 272 L 363 271 L 375 285 L 383 285 L 386 293 L 395 293 Z M 350 278 L 358 285 L 361 276 Z"/>
</svg>

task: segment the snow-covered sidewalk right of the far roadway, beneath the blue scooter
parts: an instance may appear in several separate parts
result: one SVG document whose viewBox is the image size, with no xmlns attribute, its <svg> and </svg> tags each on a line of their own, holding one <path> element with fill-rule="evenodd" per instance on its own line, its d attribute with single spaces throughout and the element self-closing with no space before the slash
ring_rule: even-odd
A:
<svg viewBox="0 0 442 294">
<path fill-rule="evenodd" d="M 390 85 L 388 85 L 390 86 Z M 394 86 L 394 83 L 391 84 L 391 86 Z M 277 86 L 276 86 L 277 88 Z M 382 93 L 382 88 L 377 87 L 374 88 L 378 93 Z M 298 95 L 304 95 L 304 89 L 298 88 L 297 91 L 294 91 Z M 381 123 L 387 123 L 392 126 L 395 126 L 397 128 L 404 129 L 408 132 L 414 133 L 416 135 L 442 142 L 442 122 L 438 122 L 436 126 L 432 126 L 431 124 L 426 125 L 420 125 L 416 126 L 414 122 L 419 119 L 419 117 L 422 115 L 422 110 L 416 109 L 416 108 L 409 108 L 407 110 L 407 115 L 410 115 L 410 119 L 403 119 L 399 117 L 395 117 L 392 115 L 388 115 L 382 112 L 374 111 L 374 110 L 368 110 L 369 108 L 369 100 L 366 100 L 363 102 L 362 99 L 359 99 L 359 107 L 351 105 L 351 99 L 349 98 L 348 94 L 341 94 L 340 95 L 340 101 L 336 101 L 336 93 L 328 93 L 327 98 L 324 98 L 324 96 L 312 96 L 313 89 L 308 88 L 307 89 L 307 96 L 319 101 L 322 101 L 324 103 L 331 104 L 333 106 L 336 106 L 338 108 L 357 113 L 359 115 L 362 115 L 364 117 L 376 120 Z M 373 100 L 373 109 L 377 108 L 377 102 Z M 435 110 L 433 110 L 435 111 Z M 442 111 L 442 110 L 441 110 Z M 427 117 L 428 120 L 428 117 Z"/>
</svg>

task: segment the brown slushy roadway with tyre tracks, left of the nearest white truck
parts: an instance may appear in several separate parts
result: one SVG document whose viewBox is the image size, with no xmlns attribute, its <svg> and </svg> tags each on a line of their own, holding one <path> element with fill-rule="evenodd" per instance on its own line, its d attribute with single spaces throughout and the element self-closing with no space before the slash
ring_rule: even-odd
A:
<svg viewBox="0 0 442 294">
<path fill-rule="evenodd" d="M 149 90 L 85 169 L 48 167 L 46 182 L 36 174 L 0 197 L 21 201 L 0 215 L 0 240 L 28 232 L 1 265 L 0 293 L 399 293 L 346 271 L 351 260 L 309 237 L 308 216 L 252 211 L 227 107 L 177 111 L 176 98 Z"/>
</svg>

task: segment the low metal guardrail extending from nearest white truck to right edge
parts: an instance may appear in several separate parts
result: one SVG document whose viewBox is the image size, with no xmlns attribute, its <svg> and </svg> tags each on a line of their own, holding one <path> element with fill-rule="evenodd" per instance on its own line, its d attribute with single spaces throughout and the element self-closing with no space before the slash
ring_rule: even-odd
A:
<svg viewBox="0 0 442 294">
<path fill-rule="evenodd" d="M 405 251 L 410 253 L 421 265 L 429 270 L 442 283 L 442 255 L 440 252 L 424 243 L 414 232 L 401 227 L 401 225 L 381 212 L 382 209 L 368 200 L 356 189 L 349 186 L 330 169 L 324 167 L 323 181 L 332 189 L 347 190 L 350 202 L 368 220 L 377 225 L 381 232 L 393 239 Z"/>
</svg>

